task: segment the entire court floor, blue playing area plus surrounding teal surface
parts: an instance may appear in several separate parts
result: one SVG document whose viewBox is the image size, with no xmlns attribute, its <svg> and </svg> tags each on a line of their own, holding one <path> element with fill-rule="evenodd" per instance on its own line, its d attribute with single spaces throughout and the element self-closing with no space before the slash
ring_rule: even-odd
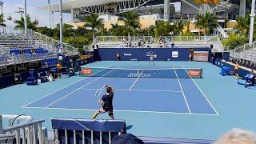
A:
<svg viewBox="0 0 256 144">
<path fill-rule="evenodd" d="M 11 86 L 0 90 L 0 110 L 46 118 L 50 130 L 50 118 L 90 118 L 100 107 L 95 93 L 107 84 L 115 89 L 115 118 L 125 119 L 131 126 L 128 132 L 138 136 L 211 140 L 235 127 L 256 130 L 256 91 L 239 86 L 234 77 L 222 77 L 217 66 L 206 62 L 147 63 L 94 62 L 86 67 L 102 67 L 98 72 L 102 76 L 77 75 L 38 86 Z M 117 74 L 118 69 L 134 68 L 170 68 L 173 78 L 105 77 Z M 202 68 L 203 78 L 182 78 L 180 68 Z"/>
</svg>

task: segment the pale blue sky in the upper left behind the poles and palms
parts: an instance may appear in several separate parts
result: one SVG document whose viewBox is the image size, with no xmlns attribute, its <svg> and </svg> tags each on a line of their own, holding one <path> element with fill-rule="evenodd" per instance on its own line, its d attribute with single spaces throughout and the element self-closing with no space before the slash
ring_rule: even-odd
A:
<svg viewBox="0 0 256 144">
<path fill-rule="evenodd" d="M 6 25 L 7 26 L 15 26 L 14 20 L 20 19 L 21 14 L 15 13 L 18 11 L 18 7 L 23 7 L 23 0 L 1 0 L 4 2 L 3 4 L 3 14 L 5 15 Z M 58 0 L 50 0 L 51 3 L 57 3 Z M 65 1 L 64 1 L 65 2 Z M 49 19 L 49 11 L 48 10 L 39 10 L 38 6 L 46 6 L 48 5 L 48 0 L 26 0 L 27 4 L 27 14 L 30 14 L 32 20 L 35 18 L 38 19 L 38 26 L 48 26 L 50 27 L 50 19 Z M 54 25 L 56 25 L 58 21 L 58 13 L 54 13 Z M 8 21 L 7 17 L 11 16 L 12 21 Z M 70 22 L 71 17 L 70 14 L 63 14 L 63 22 Z"/>
</svg>

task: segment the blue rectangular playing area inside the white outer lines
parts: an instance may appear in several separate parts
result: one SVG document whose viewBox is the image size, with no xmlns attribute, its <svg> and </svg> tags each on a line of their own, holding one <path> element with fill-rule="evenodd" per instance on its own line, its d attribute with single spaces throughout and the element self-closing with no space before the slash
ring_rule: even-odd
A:
<svg viewBox="0 0 256 144">
<path fill-rule="evenodd" d="M 94 70 L 94 77 L 82 78 L 70 86 L 47 94 L 23 107 L 98 110 L 95 93 L 107 84 L 113 86 L 116 91 L 114 96 L 116 111 L 218 115 L 214 106 L 190 75 L 191 70 L 202 75 L 202 69 L 199 68 L 92 66 L 82 70 Z M 105 94 L 105 90 L 102 94 Z"/>
</svg>

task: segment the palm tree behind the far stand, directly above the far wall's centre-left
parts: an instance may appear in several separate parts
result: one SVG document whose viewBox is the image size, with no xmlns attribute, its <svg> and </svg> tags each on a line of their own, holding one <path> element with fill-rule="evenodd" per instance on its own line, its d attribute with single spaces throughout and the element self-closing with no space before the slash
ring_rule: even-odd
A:
<svg viewBox="0 0 256 144">
<path fill-rule="evenodd" d="M 125 13 L 124 18 L 119 18 L 120 21 L 125 23 L 125 28 L 128 33 L 128 38 L 130 42 L 130 34 L 134 34 L 137 28 L 141 27 L 139 23 L 138 13 L 132 11 L 128 11 Z"/>
</svg>

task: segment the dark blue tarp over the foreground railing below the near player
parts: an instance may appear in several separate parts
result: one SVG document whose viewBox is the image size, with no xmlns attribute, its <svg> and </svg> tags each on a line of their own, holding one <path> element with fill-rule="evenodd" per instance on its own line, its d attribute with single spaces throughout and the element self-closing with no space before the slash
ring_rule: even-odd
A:
<svg viewBox="0 0 256 144">
<path fill-rule="evenodd" d="M 100 143 L 100 132 L 102 131 L 102 143 L 109 143 L 119 132 L 126 133 L 126 122 L 123 120 L 91 120 L 91 119 L 69 119 L 69 118 L 52 118 L 52 127 L 58 130 L 58 140 L 60 144 L 65 143 L 67 134 L 68 143 L 74 143 L 74 130 L 75 130 L 75 143 L 82 144 Z M 66 130 L 66 134 L 65 134 Z M 82 140 L 82 130 L 84 130 L 84 138 Z M 93 139 L 91 139 L 91 130 L 93 130 Z M 110 133 L 109 133 L 110 132 Z M 110 135 L 109 135 L 110 134 Z M 111 137 L 111 138 L 110 138 Z"/>
</svg>

